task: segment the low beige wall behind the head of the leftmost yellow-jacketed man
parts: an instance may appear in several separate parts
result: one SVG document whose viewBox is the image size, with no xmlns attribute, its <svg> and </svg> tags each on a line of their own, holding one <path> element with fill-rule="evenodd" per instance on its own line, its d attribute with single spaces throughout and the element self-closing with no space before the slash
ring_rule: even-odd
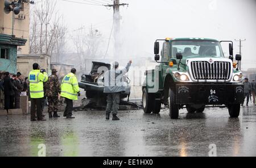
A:
<svg viewBox="0 0 256 168">
<path fill-rule="evenodd" d="M 42 54 L 39 57 L 20 57 L 18 55 L 17 59 L 17 72 L 22 73 L 24 77 L 27 77 L 32 70 L 32 65 L 36 62 L 39 64 L 40 68 L 46 69 L 48 74 L 51 73 L 50 70 L 50 57 Z"/>
</svg>

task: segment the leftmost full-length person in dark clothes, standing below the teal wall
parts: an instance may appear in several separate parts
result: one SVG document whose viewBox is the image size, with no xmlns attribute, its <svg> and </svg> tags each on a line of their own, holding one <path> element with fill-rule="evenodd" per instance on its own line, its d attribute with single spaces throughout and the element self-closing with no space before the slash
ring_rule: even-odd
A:
<svg viewBox="0 0 256 168">
<path fill-rule="evenodd" d="M 3 78 L 3 93 L 5 94 L 5 110 L 8 113 L 9 109 L 14 107 L 14 90 L 17 90 L 10 78 L 10 73 L 5 72 L 5 77 Z"/>
</svg>

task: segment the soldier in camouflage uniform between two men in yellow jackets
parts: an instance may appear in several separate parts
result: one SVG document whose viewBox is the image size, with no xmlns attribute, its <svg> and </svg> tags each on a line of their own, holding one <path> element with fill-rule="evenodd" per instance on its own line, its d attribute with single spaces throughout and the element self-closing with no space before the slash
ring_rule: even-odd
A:
<svg viewBox="0 0 256 168">
<path fill-rule="evenodd" d="M 52 74 L 48 77 L 48 81 L 46 82 L 46 96 L 48 99 L 48 113 L 49 118 L 52 117 L 60 117 L 57 114 L 58 111 L 58 96 L 60 93 L 60 82 L 59 78 L 57 77 L 57 70 L 52 69 Z"/>
</svg>

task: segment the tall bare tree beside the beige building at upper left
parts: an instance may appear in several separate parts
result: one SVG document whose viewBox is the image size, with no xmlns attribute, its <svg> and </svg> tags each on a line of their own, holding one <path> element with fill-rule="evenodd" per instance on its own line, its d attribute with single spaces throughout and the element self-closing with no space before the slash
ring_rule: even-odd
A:
<svg viewBox="0 0 256 168">
<path fill-rule="evenodd" d="M 63 16 L 55 11 L 56 1 L 41 0 L 41 5 L 31 12 L 30 53 L 46 53 L 52 56 L 65 49 L 67 26 Z"/>
</svg>

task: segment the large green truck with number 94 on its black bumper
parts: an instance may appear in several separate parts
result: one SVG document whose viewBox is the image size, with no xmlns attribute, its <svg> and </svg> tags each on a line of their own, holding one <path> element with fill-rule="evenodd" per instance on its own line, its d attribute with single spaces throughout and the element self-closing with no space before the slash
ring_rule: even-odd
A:
<svg viewBox="0 0 256 168">
<path fill-rule="evenodd" d="M 159 41 L 163 41 L 159 55 Z M 221 43 L 229 44 L 225 58 Z M 142 86 L 145 113 L 158 114 L 168 105 L 171 119 L 179 110 L 203 112 L 207 107 L 227 107 L 230 117 L 238 117 L 243 103 L 241 55 L 233 58 L 233 42 L 203 38 L 159 39 L 154 44 L 159 65 L 146 70 Z M 160 60 L 160 61 L 159 61 Z"/>
</svg>

